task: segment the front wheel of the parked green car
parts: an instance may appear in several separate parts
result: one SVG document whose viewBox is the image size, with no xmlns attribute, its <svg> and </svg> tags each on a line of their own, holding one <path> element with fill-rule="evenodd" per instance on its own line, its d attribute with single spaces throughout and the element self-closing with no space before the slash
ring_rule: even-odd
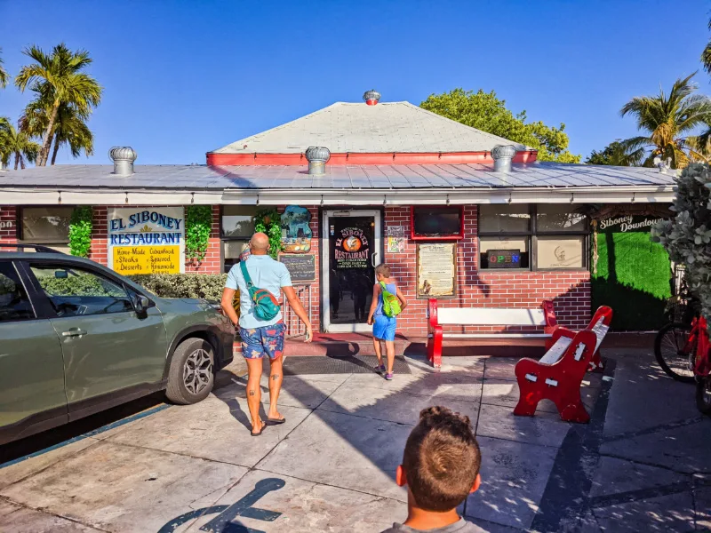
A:
<svg viewBox="0 0 711 533">
<path fill-rule="evenodd" d="M 165 395 L 173 403 L 197 403 L 212 391 L 215 383 L 215 354 L 203 338 L 186 338 L 172 354 Z"/>
</svg>

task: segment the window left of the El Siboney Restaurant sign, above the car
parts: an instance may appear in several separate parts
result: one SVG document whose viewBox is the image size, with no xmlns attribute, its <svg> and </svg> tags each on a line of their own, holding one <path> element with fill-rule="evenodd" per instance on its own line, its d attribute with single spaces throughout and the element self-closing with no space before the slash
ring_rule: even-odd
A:
<svg viewBox="0 0 711 533">
<path fill-rule="evenodd" d="M 20 242 L 43 244 L 69 253 L 69 221 L 73 207 L 23 207 L 20 210 Z"/>
</svg>

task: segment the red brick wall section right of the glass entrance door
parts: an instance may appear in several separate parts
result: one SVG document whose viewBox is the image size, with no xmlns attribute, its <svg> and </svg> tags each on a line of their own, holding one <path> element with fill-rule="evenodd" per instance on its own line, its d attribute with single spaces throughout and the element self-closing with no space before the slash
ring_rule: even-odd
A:
<svg viewBox="0 0 711 533">
<path fill-rule="evenodd" d="M 443 307 L 539 307 L 544 299 L 555 302 L 558 321 L 571 328 L 584 327 L 590 318 L 590 274 L 587 271 L 486 272 L 478 269 L 477 212 L 475 205 L 464 208 L 464 238 L 457 242 L 457 297 L 441 299 Z M 409 207 L 387 207 L 385 227 L 410 227 Z M 400 290 L 410 306 L 398 318 L 399 330 L 409 335 L 427 332 L 427 300 L 416 299 L 416 243 L 405 240 L 404 253 L 387 253 Z M 487 332 L 501 327 L 451 327 L 452 332 Z M 523 331 L 509 327 L 507 331 Z"/>
</svg>

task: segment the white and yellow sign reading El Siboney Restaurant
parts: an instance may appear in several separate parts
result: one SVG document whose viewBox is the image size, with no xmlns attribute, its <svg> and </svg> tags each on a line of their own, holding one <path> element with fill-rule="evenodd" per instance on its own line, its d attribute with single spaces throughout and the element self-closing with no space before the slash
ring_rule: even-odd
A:
<svg viewBox="0 0 711 533">
<path fill-rule="evenodd" d="M 108 211 L 108 265 L 119 274 L 179 274 L 185 270 L 182 207 Z"/>
</svg>

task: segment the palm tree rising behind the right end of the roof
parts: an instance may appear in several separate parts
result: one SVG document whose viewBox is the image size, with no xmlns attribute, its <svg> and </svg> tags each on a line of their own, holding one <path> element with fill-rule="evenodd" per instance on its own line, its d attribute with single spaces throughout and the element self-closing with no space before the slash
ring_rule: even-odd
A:
<svg viewBox="0 0 711 533">
<path fill-rule="evenodd" d="M 621 143 L 628 154 L 651 148 L 644 166 L 651 166 L 656 155 L 671 157 L 676 169 L 685 167 L 690 158 L 706 160 L 694 149 L 702 145 L 693 132 L 711 123 L 711 99 L 693 94 L 697 87 L 691 78 L 695 74 L 676 80 L 668 95 L 659 88 L 658 95 L 635 97 L 620 109 L 622 116 L 635 116 L 637 129 L 647 133 Z"/>
</svg>

